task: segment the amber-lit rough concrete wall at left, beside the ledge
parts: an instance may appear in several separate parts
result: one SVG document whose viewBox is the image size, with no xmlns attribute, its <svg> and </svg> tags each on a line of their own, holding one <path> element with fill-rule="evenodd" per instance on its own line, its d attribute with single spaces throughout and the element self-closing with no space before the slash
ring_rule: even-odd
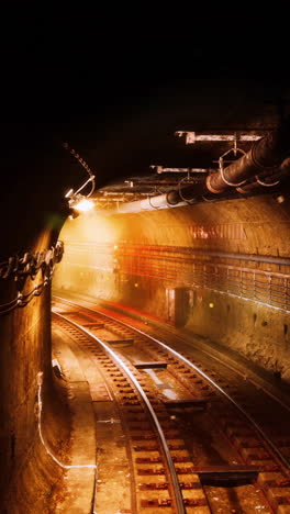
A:
<svg viewBox="0 0 290 514">
<path fill-rule="evenodd" d="M 33 252 L 49 248 L 52 233 L 44 230 Z M 27 278 L 22 293 L 42 281 Z M 16 282 L 8 279 L 1 304 L 18 297 Z M 43 435 L 59 456 L 67 447 L 69 414 L 64 391 L 54 383 L 51 366 L 51 284 L 23 308 L 0 316 L 0 510 L 3 514 L 52 512 L 52 494 L 62 483 L 62 470 L 43 447 L 38 434 L 37 373 L 43 372 Z"/>
</svg>

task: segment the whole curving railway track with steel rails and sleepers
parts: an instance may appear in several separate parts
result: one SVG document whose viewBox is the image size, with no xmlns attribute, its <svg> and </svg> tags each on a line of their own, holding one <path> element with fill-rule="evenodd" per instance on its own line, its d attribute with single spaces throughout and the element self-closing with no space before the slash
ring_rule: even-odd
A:
<svg viewBox="0 0 290 514">
<path fill-rule="evenodd" d="M 59 298 L 54 320 L 115 403 L 131 476 L 122 513 L 290 513 L 288 405 L 187 345 L 180 354 L 174 337 L 165 344 Z"/>
</svg>

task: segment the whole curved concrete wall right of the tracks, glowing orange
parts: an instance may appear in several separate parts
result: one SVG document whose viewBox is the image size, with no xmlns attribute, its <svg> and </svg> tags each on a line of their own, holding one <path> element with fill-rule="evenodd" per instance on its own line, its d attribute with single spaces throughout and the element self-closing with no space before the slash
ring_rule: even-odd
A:
<svg viewBox="0 0 290 514">
<path fill-rule="evenodd" d="M 279 203 L 263 195 L 68 220 L 60 233 L 66 249 L 54 287 L 186 326 L 290 380 L 289 303 L 281 301 L 286 295 L 288 302 L 289 266 L 277 261 L 289 258 L 289 200 Z M 196 265 L 188 265 L 188 252 Z M 228 294 L 231 280 L 235 287 L 243 280 L 244 289 Z M 180 309 L 170 317 L 168 294 L 175 288 Z"/>
</svg>

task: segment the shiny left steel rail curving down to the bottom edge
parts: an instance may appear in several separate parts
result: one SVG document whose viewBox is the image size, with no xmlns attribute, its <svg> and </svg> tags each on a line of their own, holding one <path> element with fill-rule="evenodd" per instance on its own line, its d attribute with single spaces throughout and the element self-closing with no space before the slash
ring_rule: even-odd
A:
<svg viewBox="0 0 290 514">
<path fill-rule="evenodd" d="M 59 298 L 60 300 L 64 300 L 60 297 L 55 297 L 55 298 Z M 74 302 L 70 302 L 70 303 L 74 304 Z M 75 305 L 76 305 L 76 303 L 75 303 Z M 160 423 L 159 423 L 159 421 L 158 421 L 158 418 L 157 418 L 157 416 L 156 416 L 156 414 L 154 412 L 154 409 L 152 406 L 150 401 L 148 400 L 148 398 L 147 398 L 146 393 L 144 392 L 143 388 L 140 386 L 137 379 L 134 377 L 132 371 L 130 371 L 130 369 L 122 361 L 122 359 L 110 348 L 110 346 L 108 346 L 105 343 L 103 343 L 101 339 L 99 339 L 99 337 L 93 335 L 90 331 L 82 327 L 81 325 L 78 325 L 77 323 L 72 322 L 71 320 L 68 320 L 63 314 L 59 314 L 57 312 L 54 312 L 54 314 L 56 316 L 60 317 L 62 320 L 66 321 L 68 324 L 71 324 L 72 326 L 75 326 L 80 332 L 83 332 L 85 334 L 87 334 L 92 339 L 94 339 L 104 349 L 104 351 L 110 355 L 110 357 L 113 359 L 113 361 L 116 362 L 116 365 L 122 369 L 124 375 L 127 377 L 127 379 L 133 383 L 133 386 L 137 390 L 141 399 L 142 399 L 145 407 L 147 409 L 147 411 L 148 411 L 148 413 L 149 413 L 149 415 L 152 417 L 152 421 L 153 421 L 153 423 L 155 425 L 155 428 L 156 428 L 156 432 L 157 432 L 157 435 L 158 435 L 158 438 L 159 438 L 159 442 L 160 442 L 160 445 L 161 445 L 161 448 L 163 448 L 164 457 L 165 457 L 166 463 L 167 463 L 169 472 L 170 472 L 170 478 L 171 478 L 171 482 L 172 482 L 172 487 L 174 487 L 174 496 L 175 496 L 172 500 L 174 500 L 174 502 L 176 504 L 175 506 L 176 506 L 176 510 L 177 510 L 176 513 L 177 514 L 186 514 L 187 511 L 186 511 L 186 507 L 185 507 L 185 504 L 183 504 L 183 499 L 182 499 L 180 484 L 179 484 L 177 472 L 176 472 L 176 469 L 175 469 L 175 465 L 174 465 L 174 461 L 172 461 L 172 458 L 171 458 L 171 455 L 170 455 L 170 450 L 168 448 L 166 438 L 165 438 L 164 433 L 163 433 L 163 428 L 161 428 Z"/>
</svg>

